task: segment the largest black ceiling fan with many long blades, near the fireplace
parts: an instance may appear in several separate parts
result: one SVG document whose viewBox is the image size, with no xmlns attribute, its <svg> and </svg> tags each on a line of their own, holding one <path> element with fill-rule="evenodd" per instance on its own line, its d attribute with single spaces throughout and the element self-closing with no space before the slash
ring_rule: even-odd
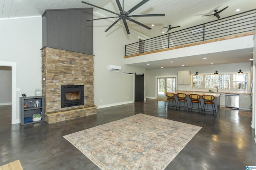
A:
<svg viewBox="0 0 256 170">
<path fill-rule="evenodd" d="M 92 19 L 92 20 L 102 20 L 102 19 L 108 19 L 108 18 L 118 18 L 118 20 L 116 20 L 112 25 L 110 25 L 110 26 L 108 27 L 108 29 L 106 29 L 106 31 L 108 31 L 112 26 L 114 26 L 116 23 L 118 23 L 118 21 L 123 20 L 123 22 L 124 22 L 124 27 L 125 27 L 125 29 L 126 29 L 127 34 L 130 34 L 130 31 L 129 31 L 129 29 L 128 29 L 128 25 L 127 25 L 126 20 L 132 21 L 133 23 L 136 23 L 136 24 L 138 24 L 138 25 L 140 25 L 140 26 L 142 26 L 142 27 L 145 27 L 146 29 L 151 29 L 150 27 L 144 25 L 143 23 L 140 23 L 140 22 L 138 22 L 138 21 L 132 20 L 132 17 L 155 17 L 155 16 L 165 16 L 165 14 L 139 14 L 139 15 L 130 15 L 130 13 L 132 13 L 134 10 L 136 10 L 137 8 L 139 8 L 140 6 L 142 6 L 143 4 L 145 4 L 145 3 L 148 2 L 148 1 L 149 1 L 149 0 L 142 0 L 142 1 L 139 2 L 136 6 L 134 6 L 133 8 L 131 8 L 130 10 L 128 10 L 128 11 L 126 12 L 126 11 L 124 11 L 124 8 L 122 8 L 122 6 L 121 6 L 119 0 L 116 0 L 116 4 L 117 4 L 117 6 L 118 6 L 118 9 L 119 9 L 119 11 L 120 11 L 120 14 L 117 14 L 116 12 L 112 12 L 112 11 L 110 11 L 110 10 L 101 8 L 101 7 L 96 6 L 96 5 L 93 5 L 93 4 L 89 4 L 89 3 L 84 2 L 84 1 L 82 1 L 82 3 L 87 4 L 87 5 L 90 5 L 90 6 L 94 6 L 94 7 L 96 7 L 96 8 L 100 8 L 100 9 L 102 9 L 102 10 L 105 10 L 105 11 L 107 11 L 107 12 L 110 12 L 110 13 L 112 13 L 112 14 L 116 14 L 116 15 L 117 15 L 117 16 L 114 16 L 114 17 L 106 17 L 106 18 Z M 123 5 L 124 5 L 124 3 L 123 3 Z M 85 21 L 92 21 L 92 20 L 85 20 Z M 105 31 L 105 32 L 106 32 L 106 31 Z"/>
</svg>

